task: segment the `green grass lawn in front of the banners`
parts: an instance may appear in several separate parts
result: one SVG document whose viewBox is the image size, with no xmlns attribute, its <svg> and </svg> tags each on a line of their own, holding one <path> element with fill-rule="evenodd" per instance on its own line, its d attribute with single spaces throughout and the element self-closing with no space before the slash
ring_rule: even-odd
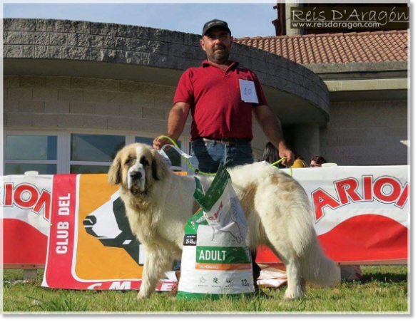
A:
<svg viewBox="0 0 418 322">
<path fill-rule="evenodd" d="M 4 270 L 3 311 L 7 312 L 399 312 L 409 313 L 407 265 L 361 266 L 362 281 L 330 289 L 307 285 L 300 300 L 282 299 L 286 286 L 264 289 L 270 298 L 178 300 L 166 292 L 136 301 L 137 291 L 70 291 L 41 287 L 43 270 L 36 280 L 23 283 L 23 271 Z"/>
</svg>

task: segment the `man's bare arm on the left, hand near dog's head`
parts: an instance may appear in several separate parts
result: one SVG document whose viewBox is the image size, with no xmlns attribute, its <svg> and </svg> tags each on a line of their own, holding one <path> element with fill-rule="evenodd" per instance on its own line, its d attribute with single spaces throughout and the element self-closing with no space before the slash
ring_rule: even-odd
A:
<svg viewBox="0 0 418 322">
<path fill-rule="evenodd" d="M 168 114 L 168 130 L 165 136 L 171 137 L 174 141 L 178 140 L 181 133 L 183 133 L 185 120 L 187 120 L 188 113 L 190 110 L 190 105 L 188 103 L 175 103 L 173 108 L 170 110 L 170 114 Z M 159 135 L 158 135 L 159 137 Z M 158 140 L 158 137 L 154 139 L 153 148 L 156 150 L 160 150 L 163 145 L 172 144 L 170 140 L 162 138 Z"/>
</svg>

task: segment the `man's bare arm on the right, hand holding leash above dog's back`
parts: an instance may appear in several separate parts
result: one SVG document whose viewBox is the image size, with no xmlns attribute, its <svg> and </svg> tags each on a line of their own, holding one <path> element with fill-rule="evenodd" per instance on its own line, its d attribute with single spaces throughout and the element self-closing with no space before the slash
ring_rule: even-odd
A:
<svg viewBox="0 0 418 322">
<path fill-rule="evenodd" d="M 267 105 L 260 105 L 253 108 L 253 113 L 267 137 L 267 140 L 272 142 L 279 150 L 279 157 L 286 157 L 286 159 L 282 161 L 282 164 L 288 166 L 292 165 L 293 160 L 295 160 L 295 155 L 287 148 L 280 120 L 272 113 L 272 110 L 270 110 Z"/>
</svg>

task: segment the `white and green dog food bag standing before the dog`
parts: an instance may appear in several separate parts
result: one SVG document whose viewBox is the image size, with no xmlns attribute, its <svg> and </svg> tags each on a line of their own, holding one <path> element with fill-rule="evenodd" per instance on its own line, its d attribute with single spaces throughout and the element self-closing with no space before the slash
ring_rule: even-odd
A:
<svg viewBox="0 0 418 322">
<path fill-rule="evenodd" d="M 178 298 L 219 298 L 254 292 L 248 225 L 230 175 L 220 167 L 205 194 L 195 177 L 201 209 L 185 225 Z"/>
</svg>

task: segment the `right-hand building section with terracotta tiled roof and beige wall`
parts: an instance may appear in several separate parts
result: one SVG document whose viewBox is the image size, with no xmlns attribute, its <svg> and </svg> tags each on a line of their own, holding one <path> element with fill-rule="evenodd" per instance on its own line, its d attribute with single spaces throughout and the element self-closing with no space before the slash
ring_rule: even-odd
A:
<svg viewBox="0 0 418 322">
<path fill-rule="evenodd" d="M 338 165 L 408 163 L 409 29 L 351 31 L 290 28 L 293 6 L 372 4 L 277 4 L 277 35 L 236 39 L 275 53 L 320 76 L 330 93 L 330 121 L 320 127 L 320 155 Z M 381 4 L 380 6 L 389 6 Z M 398 6 L 398 5 L 390 5 Z M 407 6 L 402 4 L 399 6 Z M 320 8 L 317 8 L 319 10 Z M 333 33 L 329 33 L 333 31 Z M 300 131 L 298 125 L 287 133 Z M 305 135 L 309 142 L 309 135 Z M 303 142 L 290 142 L 306 158 Z"/>
</svg>

